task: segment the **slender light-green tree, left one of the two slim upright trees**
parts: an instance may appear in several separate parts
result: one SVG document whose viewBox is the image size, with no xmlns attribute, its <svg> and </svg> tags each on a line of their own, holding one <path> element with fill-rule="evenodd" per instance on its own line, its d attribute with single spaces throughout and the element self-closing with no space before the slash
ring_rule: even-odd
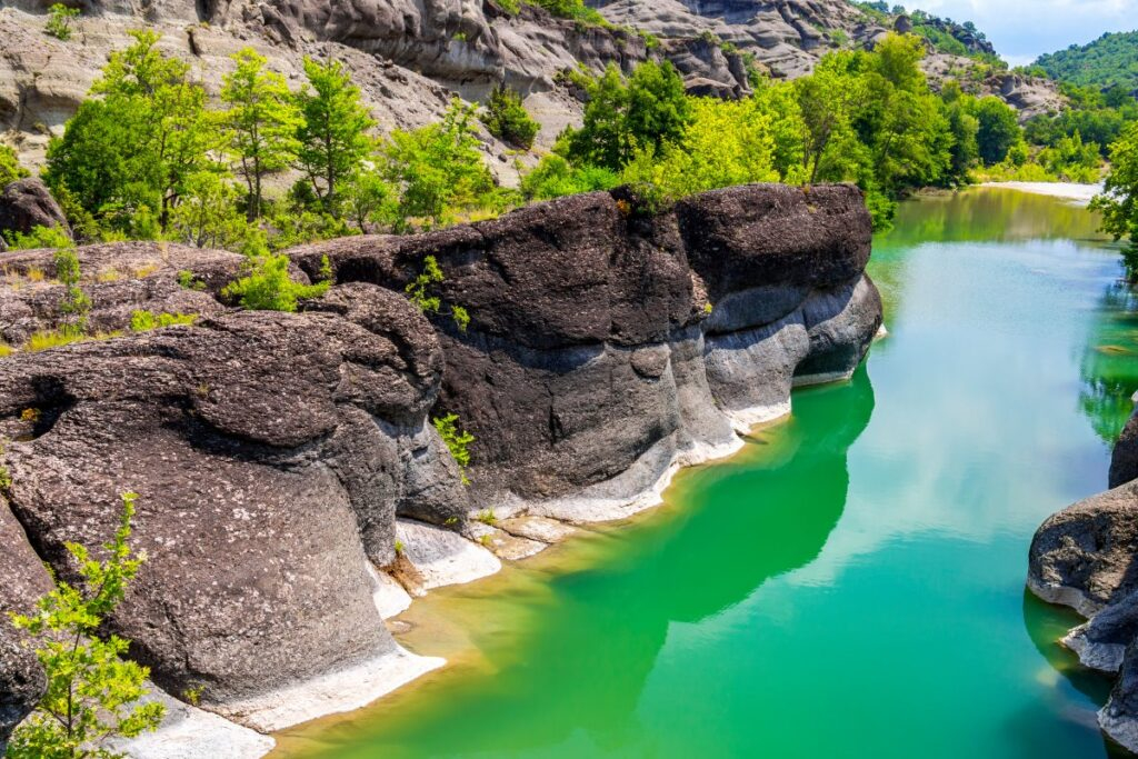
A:
<svg viewBox="0 0 1138 759">
<path fill-rule="evenodd" d="M 253 48 L 233 55 L 237 69 L 222 81 L 222 117 L 229 150 L 248 189 L 246 215 L 261 218 L 264 179 L 290 166 L 300 148 L 302 117 L 284 77 L 265 71 L 267 59 Z"/>
</svg>

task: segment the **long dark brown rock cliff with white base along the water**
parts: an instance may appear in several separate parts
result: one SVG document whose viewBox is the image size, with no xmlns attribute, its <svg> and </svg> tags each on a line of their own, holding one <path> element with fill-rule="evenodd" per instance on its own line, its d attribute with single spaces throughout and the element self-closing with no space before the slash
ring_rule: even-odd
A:
<svg viewBox="0 0 1138 759">
<path fill-rule="evenodd" d="M 404 587 L 533 553 L 559 538 L 545 518 L 653 504 L 677 465 L 785 413 L 794 383 L 851 373 L 881 324 L 869 218 L 844 185 L 735 188 L 660 213 L 594 193 L 291 255 L 308 272 L 327 255 L 337 283 L 271 314 L 220 298 L 233 254 L 81 248 L 99 329 L 135 308 L 201 321 L 0 358 L 0 562 L 26 578 L 0 588 L 3 608 L 42 593 L 41 560 L 71 577 L 64 543 L 102 542 L 135 492 L 149 561 L 112 629 L 164 690 L 204 687 L 204 708 L 258 731 L 437 666 L 384 627 Z M 428 255 L 465 331 L 402 294 Z M 11 278 L 51 275 L 50 251 L 8 261 Z M 195 288 L 176 282 L 187 271 Z M 58 323 L 60 296 L 9 288 L 0 333 Z M 477 436 L 470 487 L 429 423 L 447 412 Z M 472 519 L 486 510 L 497 526 Z M 0 657 L 2 736 L 42 676 L 10 627 Z"/>
</svg>

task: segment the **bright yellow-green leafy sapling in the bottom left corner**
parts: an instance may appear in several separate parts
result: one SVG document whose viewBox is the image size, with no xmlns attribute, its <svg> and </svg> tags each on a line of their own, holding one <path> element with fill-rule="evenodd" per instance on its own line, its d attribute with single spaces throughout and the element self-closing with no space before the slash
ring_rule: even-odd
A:
<svg viewBox="0 0 1138 759">
<path fill-rule="evenodd" d="M 115 537 L 102 546 L 105 559 L 92 558 L 68 543 L 81 583 L 57 579 L 56 588 L 31 614 L 10 614 L 13 624 L 35 644 L 48 676 L 48 692 L 11 736 L 9 759 L 113 759 L 124 757 L 104 746 L 108 739 L 137 737 L 162 723 L 165 707 L 139 703 L 149 670 L 124 661 L 127 641 L 100 635 L 104 620 L 122 602 L 146 561 L 130 548 L 134 494 L 123 495 L 123 517 Z"/>
</svg>

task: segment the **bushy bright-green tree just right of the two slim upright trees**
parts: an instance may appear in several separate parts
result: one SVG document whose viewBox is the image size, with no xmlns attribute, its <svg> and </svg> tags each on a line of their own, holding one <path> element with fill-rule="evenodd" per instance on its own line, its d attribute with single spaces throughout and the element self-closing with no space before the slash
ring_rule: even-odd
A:
<svg viewBox="0 0 1138 759">
<path fill-rule="evenodd" d="M 452 221 L 490 196 L 494 179 L 483 163 L 473 109 L 455 99 L 440 123 L 396 130 L 384 149 L 384 175 L 398 192 L 396 228 Z"/>
</svg>

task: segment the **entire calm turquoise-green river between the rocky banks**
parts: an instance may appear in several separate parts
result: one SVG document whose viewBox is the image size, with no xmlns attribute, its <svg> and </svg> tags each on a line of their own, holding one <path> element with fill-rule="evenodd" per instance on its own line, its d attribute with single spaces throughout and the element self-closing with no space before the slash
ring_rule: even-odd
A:
<svg viewBox="0 0 1138 759">
<path fill-rule="evenodd" d="M 1031 535 L 1105 487 L 1136 304 L 1095 221 L 971 191 L 907 204 L 891 337 L 668 503 L 417 603 L 452 666 L 280 756 L 1107 756 L 1108 684 L 1023 591 Z"/>
</svg>

